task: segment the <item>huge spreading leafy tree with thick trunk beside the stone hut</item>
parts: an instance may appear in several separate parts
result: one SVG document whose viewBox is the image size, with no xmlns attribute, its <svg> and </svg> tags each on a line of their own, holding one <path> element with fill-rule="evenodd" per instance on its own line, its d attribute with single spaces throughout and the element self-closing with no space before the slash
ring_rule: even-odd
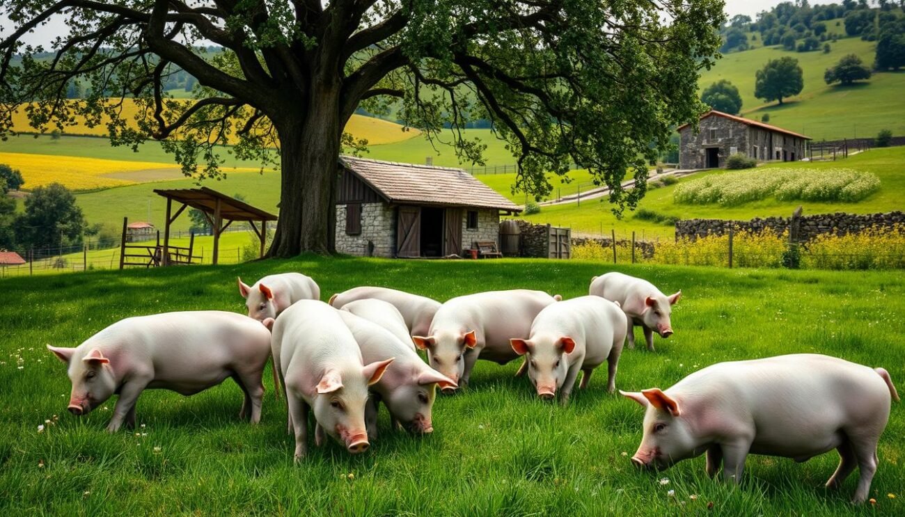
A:
<svg viewBox="0 0 905 517">
<path fill-rule="evenodd" d="M 7 0 L 0 42 L 0 136 L 12 109 L 35 101 L 33 127 L 73 115 L 110 117 L 114 145 L 163 140 L 186 174 L 216 176 L 217 146 L 281 169 L 280 221 L 269 253 L 333 249 L 338 154 L 366 144 L 344 133 L 359 107 L 399 118 L 482 163 L 461 129 L 492 121 L 517 156 L 519 191 L 545 194 L 546 172 L 571 163 L 612 187 L 614 211 L 645 192 L 646 164 L 672 127 L 695 122 L 698 71 L 709 68 L 721 0 Z M 50 60 L 21 42 L 52 16 L 69 33 Z M 206 52 L 213 42 L 222 51 Z M 205 55 L 206 52 L 206 55 Z M 22 54 L 21 61 L 11 60 Z M 19 64 L 21 63 L 21 64 Z M 168 97 L 186 71 L 197 99 Z M 62 101 L 79 78 L 92 95 Z M 100 92 L 104 92 L 101 94 Z M 109 95 L 107 99 L 102 95 Z M 138 105 L 135 125 L 120 99 Z M 448 134 L 448 133 L 447 133 Z M 653 148 L 651 144 L 654 144 Z M 267 146 L 278 146 L 279 154 Z M 624 190 L 627 174 L 637 187 Z"/>
</svg>

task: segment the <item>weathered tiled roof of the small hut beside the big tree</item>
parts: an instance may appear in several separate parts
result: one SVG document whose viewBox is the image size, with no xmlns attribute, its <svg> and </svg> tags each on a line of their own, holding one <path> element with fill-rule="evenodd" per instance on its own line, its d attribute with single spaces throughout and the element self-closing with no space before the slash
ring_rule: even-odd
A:
<svg viewBox="0 0 905 517">
<path fill-rule="evenodd" d="M 397 164 L 354 156 L 340 156 L 339 162 L 388 202 L 522 210 L 462 169 Z"/>
</svg>

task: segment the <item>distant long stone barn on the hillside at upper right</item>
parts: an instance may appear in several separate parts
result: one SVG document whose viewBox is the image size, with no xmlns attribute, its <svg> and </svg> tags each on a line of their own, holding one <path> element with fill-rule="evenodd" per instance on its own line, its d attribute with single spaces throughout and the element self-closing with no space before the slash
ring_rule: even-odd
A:
<svg viewBox="0 0 905 517">
<path fill-rule="evenodd" d="M 782 127 L 710 110 L 700 118 L 699 132 L 690 124 L 678 128 L 679 168 L 711 169 L 722 167 L 736 153 L 758 162 L 775 160 L 795 162 L 805 157 L 811 138 Z"/>
</svg>

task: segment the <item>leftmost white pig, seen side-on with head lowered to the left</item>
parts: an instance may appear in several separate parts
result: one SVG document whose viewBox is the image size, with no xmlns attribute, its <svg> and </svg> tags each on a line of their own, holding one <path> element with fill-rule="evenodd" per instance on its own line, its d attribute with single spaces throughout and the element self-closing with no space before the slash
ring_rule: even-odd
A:
<svg viewBox="0 0 905 517">
<path fill-rule="evenodd" d="M 252 318 L 220 311 L 131 317 L 111 324 L 76 348 L 47 348 L 69 365 L 69 411 L 86 415 L 119 394 L 107 430 L 135 425 L 135 403 L 143 390 L 183 395 L 212 388 L 232 377 L 245 399 L 240 418 L 261 419 L 261 375 L 271 352 L 271 334 Z"/>
</svg>

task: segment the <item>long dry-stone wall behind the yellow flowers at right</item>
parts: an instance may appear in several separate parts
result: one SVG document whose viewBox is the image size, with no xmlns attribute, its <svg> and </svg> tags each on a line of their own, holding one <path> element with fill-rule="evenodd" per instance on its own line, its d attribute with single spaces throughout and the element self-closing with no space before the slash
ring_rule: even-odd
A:
<svg viewBox="0 0 905 517">
<path fill-rule="evenodd" d="M 857 233 L 873 227 L 891 228 L 905 225 L 905 213 L 890 211 L 886 213 L 821 213 L 807 216 L 767 217 L 751 221 L 727 221 L 723 219 L 689 219 L 676 222 L 676 239 L 689 238 L 695 240 L 707 235 L 723 235 L 729 227 L 735 231 L 761 233 L 771 230 L 782 233 L 789 231 L 795 241 L 806 242 L 814 237 L 833 233 L 845 235 Z"/>
</svg>

